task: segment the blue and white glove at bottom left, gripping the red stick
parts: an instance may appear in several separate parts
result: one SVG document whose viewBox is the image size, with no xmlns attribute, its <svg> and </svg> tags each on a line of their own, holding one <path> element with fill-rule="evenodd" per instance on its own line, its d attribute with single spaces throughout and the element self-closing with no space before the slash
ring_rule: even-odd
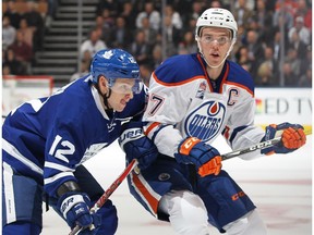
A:
<svg viewBox="0 0 314 235">
<path fill-rule="evenodd" d="M 95 234 L 95 227 L 97 230 L 101 224 L 101 219 L 97 213 L 90 214 L 87 205 L 90 205 L 90 200 L 82 193 L 65 193 L 58 200 L 58 208 L 71 228 L 78 224 L 84 227 L 82 234 Z"/>
</svg>

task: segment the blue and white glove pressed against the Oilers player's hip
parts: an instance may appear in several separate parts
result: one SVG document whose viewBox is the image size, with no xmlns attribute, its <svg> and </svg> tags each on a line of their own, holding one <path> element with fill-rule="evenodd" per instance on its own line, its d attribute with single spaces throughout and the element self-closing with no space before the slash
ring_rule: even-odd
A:
<svg viewBox="0 0 314 235">
<path fill-rule="evenodd" d="M 142 122 L 128 123 L 128 128 L 119 138 L 119 145 L 129 162 L 137 159 L 141 170 L 147 169 L 158 157 L 157 147 L 143 133 Z"/>
</svg>

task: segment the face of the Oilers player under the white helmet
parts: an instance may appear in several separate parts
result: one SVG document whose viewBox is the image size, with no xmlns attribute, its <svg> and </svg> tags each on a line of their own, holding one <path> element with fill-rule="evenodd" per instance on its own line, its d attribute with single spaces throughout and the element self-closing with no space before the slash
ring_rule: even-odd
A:
<svg viewBox="0 0 314 235">
<path fill-rule="evenodd" d="M 202 29 L 200 46 L 208 63 L 218 65 L 231 46 L 231 32 L 227 28 L 205 27 Z"/>
</svg>

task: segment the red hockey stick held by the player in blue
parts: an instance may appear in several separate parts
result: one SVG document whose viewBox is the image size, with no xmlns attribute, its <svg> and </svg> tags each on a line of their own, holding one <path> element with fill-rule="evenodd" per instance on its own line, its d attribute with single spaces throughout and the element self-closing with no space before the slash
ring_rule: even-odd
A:
<svg viewBox="0 0 314 235">
<path fill-rule="evenodd" d="M 90 208 L 92 213 L 96 213 L 108 200 L 110 195 L 119 187 L 119 185 L 124 181 L 124 178 L 132 172 L 132 170 L 137 165 L 137 160 L 133 159 L 130 164 L 123 170 L 119 177 L 109 186 L 109 188 L 101 195 L 101 197 L 96 201 L 93 208 Z M 76 225 L 69 235 L 75 235 L 83 227 Z"/>
</svg>

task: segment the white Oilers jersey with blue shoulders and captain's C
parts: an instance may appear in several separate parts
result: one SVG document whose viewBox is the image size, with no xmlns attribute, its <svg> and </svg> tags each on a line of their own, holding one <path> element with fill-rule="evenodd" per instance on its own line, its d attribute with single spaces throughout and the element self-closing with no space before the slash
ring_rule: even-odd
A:
<svg viewBox="0 0 314 235">
<path fill-rule="evenodd" d="M 264 131 L 254 126 L 254 113 L 253 79 L 240 65 L 226 61 L 213 82 L 201 54 L 176 55 L 152 74 L 145 133 L 161 153 L 171 157 L 188 136 L 212 144 L 222 134 L 237 150 L 259 143 L 264 136 Z"/>
</svg>

